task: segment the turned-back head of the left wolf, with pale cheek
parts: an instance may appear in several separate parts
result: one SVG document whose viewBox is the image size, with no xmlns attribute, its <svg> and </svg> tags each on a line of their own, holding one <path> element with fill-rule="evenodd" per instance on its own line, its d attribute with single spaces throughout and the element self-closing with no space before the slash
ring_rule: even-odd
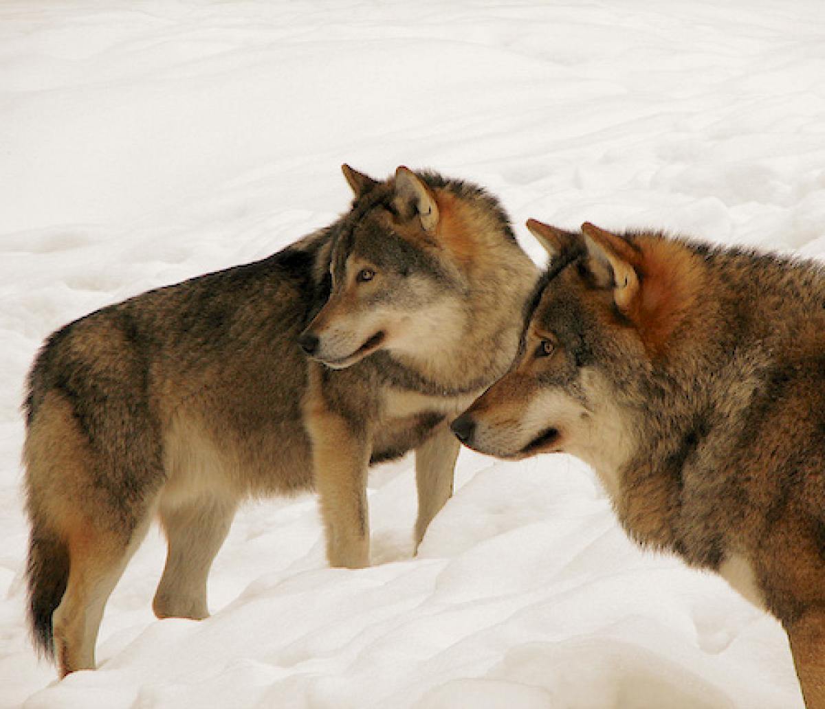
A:
<svg viewBox="0 0 825 709">
<path fill-rule="evenodd" d="M 521 252 L 507 215 L 483 190 L 433 173 L 398 167 L 380 182 L 343 171 L 355 200 L 334 228 L 328 301 L 299 345 L 333 369 L 380 349 L 449 350 L 464 336 L 471 280 L 507 271 L 502 247 Z"/>
</svg>

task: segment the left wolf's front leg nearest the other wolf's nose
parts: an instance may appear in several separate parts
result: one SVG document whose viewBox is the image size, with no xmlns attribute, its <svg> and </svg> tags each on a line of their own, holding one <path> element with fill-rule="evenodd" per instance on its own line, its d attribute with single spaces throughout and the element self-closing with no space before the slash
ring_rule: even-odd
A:
<svg viewBox="0 0 825 709">
<path fill-rule="evenodd" d="M 432 518 L 453 494 L 453 470 L 461 444 L 445 426 L 418 446 L 415 451 L 415 477 L 418 488 L 418 519 L 415 547 L 421 544 Z"/>
</svg>

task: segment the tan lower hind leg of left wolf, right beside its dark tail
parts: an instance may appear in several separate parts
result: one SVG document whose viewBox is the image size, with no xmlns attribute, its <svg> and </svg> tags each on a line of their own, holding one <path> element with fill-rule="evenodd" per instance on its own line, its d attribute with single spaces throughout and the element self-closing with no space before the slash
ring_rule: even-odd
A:
<svg viewBox="0 0 825 709">
<path fill-rule="evenodd" d="M 68 534 L 68 584 L 52 616 L 54 654 L 61 677 L 78 669 L 95 669 L 95 643 L 103 609 L 144 540 L 150 519 L 147 514 L 127 538 L 88 523 L 78 524 Z"/>
</svg>

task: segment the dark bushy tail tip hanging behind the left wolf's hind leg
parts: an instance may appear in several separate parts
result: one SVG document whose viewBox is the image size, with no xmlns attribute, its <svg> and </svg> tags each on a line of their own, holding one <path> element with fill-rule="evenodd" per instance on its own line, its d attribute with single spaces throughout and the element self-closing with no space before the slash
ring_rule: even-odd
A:
<svg viewBox="0 0 825 709">
<path fill-rule="evenodd" d="M 54 659 L 52 613 L 60 604 L 68 581 L 68 547 L 57 535 L 32 528 L 29 562 L 29 626 L 31 640 L 43 655 Z"/>
</svg>

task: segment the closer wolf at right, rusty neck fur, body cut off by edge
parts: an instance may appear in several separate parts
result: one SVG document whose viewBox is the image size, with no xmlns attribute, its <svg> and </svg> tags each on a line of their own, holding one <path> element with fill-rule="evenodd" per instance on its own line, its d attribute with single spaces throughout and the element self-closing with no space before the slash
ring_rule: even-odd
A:
<svg viewBox="0 0 825 709">
<path fill-rule="evenodd" d="M 451 425 L 517 460 L 571 453 L 625 531 L 782 623 L 825 707 L 825 270 L 661 232 L 567 231 L 507 374 Z"/>
</svg>

